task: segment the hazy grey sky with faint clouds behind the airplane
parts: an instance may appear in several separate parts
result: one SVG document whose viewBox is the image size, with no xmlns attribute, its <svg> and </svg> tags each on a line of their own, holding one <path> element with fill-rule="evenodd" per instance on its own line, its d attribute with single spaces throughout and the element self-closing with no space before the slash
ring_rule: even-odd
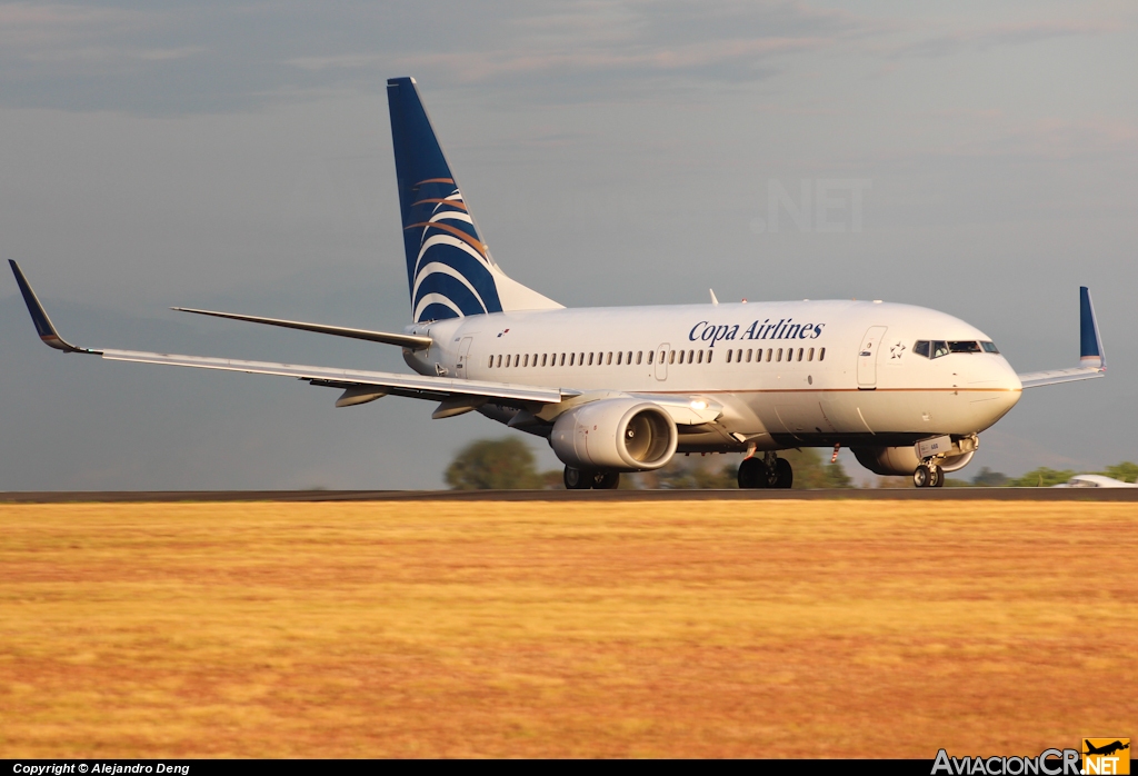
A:
<svg viewBox="0 0 1138 776">
<path fill-rule="evenodd" d="M 566 305 L 910 303 L 1026 372 L 1077 364 L 1089 286 L 1108 377 L 1025 391 L 960 476 L 1138 460 L 1132 2 L 5 2 L 0 258 L 80 345 L 406 371 L 168 309 L 405 325 L 403 75 Z M 2 490 L 437 488 L 506 434 L 337 396 L 50 350 L 0 275 Z"/>
</svg>

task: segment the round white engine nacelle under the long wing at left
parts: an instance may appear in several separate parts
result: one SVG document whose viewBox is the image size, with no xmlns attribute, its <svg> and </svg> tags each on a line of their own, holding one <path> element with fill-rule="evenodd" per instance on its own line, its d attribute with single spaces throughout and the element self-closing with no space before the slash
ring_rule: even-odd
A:
<svg viewBox="0 0 1138 776">
<path fill-rule="evenodd" d="M 662 408 L 635 398 L 589 402 L 553 423 L 550 447 L 574 469 L 645 471 L 671 460 L 679 435 Z"/>
</svg>

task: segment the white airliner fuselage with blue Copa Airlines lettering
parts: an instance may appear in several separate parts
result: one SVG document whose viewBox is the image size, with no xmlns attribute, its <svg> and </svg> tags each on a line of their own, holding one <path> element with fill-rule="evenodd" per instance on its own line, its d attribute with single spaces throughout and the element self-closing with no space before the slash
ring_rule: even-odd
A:
<svg viewBox="0 0 1138 776">
<path fill-rule="evenodd" d="M 679 449 L 910 445 L 978 434 L 1021 395 L 998 353 L 914 353 L 990 338 L 959 319 L 879 302 L 776 302 L 494 313 L 423 323 L 421 374 L 589 394 L 706 397 L 723 406 Z M 516 411 L 481 412 L 508 421 Z"/>
</svg>

